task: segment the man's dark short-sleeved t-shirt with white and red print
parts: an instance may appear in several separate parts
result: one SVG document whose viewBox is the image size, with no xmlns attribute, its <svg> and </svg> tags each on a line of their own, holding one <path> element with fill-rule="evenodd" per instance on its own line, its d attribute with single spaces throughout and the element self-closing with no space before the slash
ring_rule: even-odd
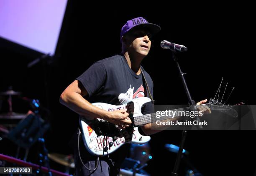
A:
<svg viewBox="0 0 256 176">
<path fill-rule="evenodd" d="M 144 73 L 153 96 L 153 81 L 145 70 Z M 145 94 L 149 97 L 148 93 L 146 93 L 142 74 L 136 75 L 123 55 L 115 55 L 97 61 L 77 80 L 87 90 L 88 96 L 85 98 L 90 103 L 102 102 L 118 105 L 128 103 L 134 98 L 143 97 Z M 153 104 L 147 103 L 142 111 L 143 114 L 154 113 Z M 113 152 L 110 158 L 114 161 L 115 158 L 123 160 L 129 151 L 128 147 L 129 145 L 127 144 L 123 145 Z"/>
</svg>

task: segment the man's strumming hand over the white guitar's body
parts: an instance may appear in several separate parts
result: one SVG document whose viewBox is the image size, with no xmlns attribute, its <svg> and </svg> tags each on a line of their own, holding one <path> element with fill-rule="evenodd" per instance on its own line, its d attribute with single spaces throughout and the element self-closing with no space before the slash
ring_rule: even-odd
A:
<svg viewBox="0 0 256 176">
<path fill-rule="evenodd" d="M 110 123 L 114 123 L 119 126 L 121 129 L 125 129 L 128 126 L 131 126 L 131 119 L 128 117 L 129 114 L 126 112 L 127 109 L 117 110 L 117 111 L 110 111 L 108 113 L 108 119 Z"/>
</svg>

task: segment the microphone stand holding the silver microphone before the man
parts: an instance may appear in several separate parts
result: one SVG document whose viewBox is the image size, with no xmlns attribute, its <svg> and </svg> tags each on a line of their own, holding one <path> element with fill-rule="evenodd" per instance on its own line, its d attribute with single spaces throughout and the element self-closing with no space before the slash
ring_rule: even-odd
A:
<svg viewBox="0 0 256 176">
<path fill-rule="evenodd" d="M 180 75 L 180 77 L 182 79 L 182 84 L 184 85 L 184 89 L 185 89 L 185 92 L 187 94 L 187 99 L 188 99 L 190 108 L 191 108 L 192 111 L 196 111 L 196 109 L 197 109 L 196 108 L 196 103 L 195 103 L 194 100 L 192 100 L 192 98 L 190 96 L 189 90 L 187 88 L 187 83 L 186 83 L 185 78 L 184 78 L 184 75 L 186 73 L 183 73 L 182 70 L 180 69 L 180 66 L 179 66 L 179 63 L 178 63 L 178 58 L 177 58 L 177 52 L 175 50 L 171 50 L 171 51 L 172 51 L 172 58 L 175 61 L 177 67 L 178 67 L 179 75 Z M 200 119 L 197 116 L 195 118 L 196 118 L 197 121 L 200 122 Z M 197 128 L 198 129 L 202 129 L 202 125 L 198 125 Z M 174 169 L 173 169 L 173 172 L 171 173 L 171 176 L 178 176 L 178 169 L 179 169 L 179 164 L 180 164 L 181 157 L 182 157 L 182 151 L 183 151 L 183 147 L 184 147 L 186 136 L 187 136 L 187 131 L 183 130 L 182 131 L 181 143 L 179 145 L 179 152 L 177 154 L 177 158 L 176 158 Z"/>
</svg>

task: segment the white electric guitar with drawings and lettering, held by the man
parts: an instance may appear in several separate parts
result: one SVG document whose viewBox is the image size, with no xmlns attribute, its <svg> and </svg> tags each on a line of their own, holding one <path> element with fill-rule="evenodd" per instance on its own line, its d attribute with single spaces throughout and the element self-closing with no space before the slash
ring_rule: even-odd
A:
<svg viewBox="0 0 256 176">
<path fill-rule="evenodd" d="M 125 130 L 121 130 L 117 125 L 100 118 L 92 121 L 88 121 L 85 118 L 80 118 L 79 123 L 82 131 L 82 139 L 87 150 L 93 155 L 105 156 L 108 153 L 116 151 L 125 143 L 147 143 L 150 140 L 150 136 L 142 136 L 138 132 L 138 127 L 159 120 L 159 118 L 156 118 L 156 113 L 146 115 L 141 113 L 142 106 L 148 102 L 151 102 L 150 98 L 140 97 L 119 106 L 110 105 L 107 103 L 92 103 L 94 106 L 106 111 L 116 111 L 126 108 L 133 123 L 132 126 L 126 128 Z M 207 104 L 197 106 L 208 106 L 211 111 L 218 110 L 223 113 L 228 113 L 233 117 L 238 116 L 236 110 L 213 99 L 210 99 L 209 103 Z M 189 108 L 181 108 L 177 110 L 187 111 Z M 168 118 L 173 117 L 168 116 L 160 118 L 160 120 L 166 120 Z"/>
</svg>

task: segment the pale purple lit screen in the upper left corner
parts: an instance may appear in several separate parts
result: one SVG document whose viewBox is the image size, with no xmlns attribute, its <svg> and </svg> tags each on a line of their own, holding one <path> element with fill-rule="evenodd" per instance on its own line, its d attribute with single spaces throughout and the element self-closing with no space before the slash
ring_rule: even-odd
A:
<svg viewBox="0 0 256 176">
<path fill-rule="evenodd" d="M 67 0 L 0 0 L 0 37 L 54 54 Z"/>
</svg>

